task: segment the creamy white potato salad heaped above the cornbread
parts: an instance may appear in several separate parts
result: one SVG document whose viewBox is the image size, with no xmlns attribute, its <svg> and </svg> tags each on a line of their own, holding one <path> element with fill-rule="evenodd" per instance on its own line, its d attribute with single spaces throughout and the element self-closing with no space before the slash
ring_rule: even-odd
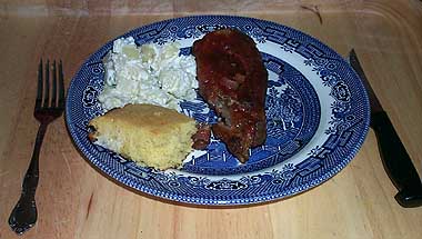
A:
<svg viewBox="0 0 422 239">
<path fill-rule="evenodd" d="M 102 108 L 109 111 L 128 103 L 151 103 L 178 109 L 180 101 L 195 99 L 194 57 L 179 52 L 177 42 L 137 46 L 132 37 L 117 39 L 103 58 Z"/>
</svg>

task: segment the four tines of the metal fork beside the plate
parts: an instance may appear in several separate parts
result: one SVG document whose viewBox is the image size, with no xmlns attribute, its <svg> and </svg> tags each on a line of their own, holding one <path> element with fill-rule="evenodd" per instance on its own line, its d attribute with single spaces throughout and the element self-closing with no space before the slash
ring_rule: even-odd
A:
<svg viewBox="0 0 422 239">
<path fill-rule="evenodd" d="M 57 70 L 57 63 L 54 60 L 51 66 L 51 70 L 52 79 L 50 82 L 50 61 L 47 60 L 43 72 L 43 63 L 41 59 L 38 67 L 38 89 L 36 109 L 64 107 L 62 61 L 59 60 L 59 70 Z"/>
</svg>

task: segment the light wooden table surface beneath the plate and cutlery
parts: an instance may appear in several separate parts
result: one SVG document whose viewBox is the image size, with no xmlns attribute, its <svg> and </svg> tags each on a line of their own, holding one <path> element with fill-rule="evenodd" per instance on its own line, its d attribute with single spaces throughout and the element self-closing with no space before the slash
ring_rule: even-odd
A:
<svg viewBox="0 0 422 239">
<path fill-rule="evenodd" d="M 162 19 L 224 13 L 308 32 L 346 56 L 354 48 L 422 175 L 422 2 L 409 1 L 2 1 L 0 3 L 0 238 L 20 195 L 38 129 L 39 59 L 63 59 L 66 83 L 108 40 Z M 129 191 L 78 152 L 64 120 L 48 129 L 39 220 L 21 238 L 421 238 L 422 208 L 404 209 L 374 133 L 328 182 L 287 200 L 230 209 L 163 202 Z"/>
</svg>

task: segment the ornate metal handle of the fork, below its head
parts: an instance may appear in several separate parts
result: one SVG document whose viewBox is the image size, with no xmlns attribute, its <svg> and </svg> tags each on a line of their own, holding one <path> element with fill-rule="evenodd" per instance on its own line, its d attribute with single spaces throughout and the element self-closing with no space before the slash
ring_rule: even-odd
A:
<svg viewBox="0 0 422 239">
<path fill-rule="evenodd" d="M 41 123 L 38 129 L 31 162 L 22 182 L 22 192 L 9 217 L 9 225 L 18 235 L 23 233 L 37 222 L 36 191 L 39 179 L 39 156 L 47 126 L 48 123 Z"/>
</svg>

